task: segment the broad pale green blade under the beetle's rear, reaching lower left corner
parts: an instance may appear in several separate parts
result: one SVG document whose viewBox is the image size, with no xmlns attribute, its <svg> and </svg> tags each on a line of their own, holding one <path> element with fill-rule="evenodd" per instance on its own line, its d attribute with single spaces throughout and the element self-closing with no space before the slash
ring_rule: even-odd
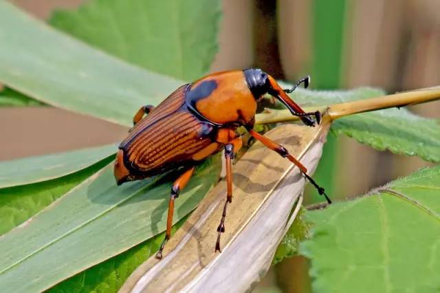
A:
<svg viewBox="0 0 440 293">
<path fill-rule="evenodd" d="M 176 201 L 175 222 L 217 182 L 218 159 L 197 167 Z M 0 237 L 0 291 L 45 290 L 164 231 L 173 176 L 166 178 L 116 186 L 108 166 Z"/>
</svg>

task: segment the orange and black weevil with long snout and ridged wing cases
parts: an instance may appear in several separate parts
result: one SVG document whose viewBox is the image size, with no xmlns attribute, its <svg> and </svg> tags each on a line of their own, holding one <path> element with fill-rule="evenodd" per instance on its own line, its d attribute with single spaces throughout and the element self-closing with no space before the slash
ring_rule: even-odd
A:
<svg viewBox="0 0 440 293">
<path fill-rule="evenodd" d="M 274 78 L 261 69 L 219 72 L 182 85 L 156 108 L 144 106 L 133 118 L 133 129 L 119 145 L 114 175 L 119 184 L 140 180 L 181 169 L 182 175 L 171 188 L 168 204 L 166 236 L 156 257 L 162 258 L 162 250 L 170 238 L 174 201 L 186 186 L 195 166 L 210 155 L 225 149 L 227 199 L 223 208 L 215 251 L 220 250 L 220 235 L 224 232 L 226 207 L 232 202 L 232 164 L 234 153 L 241 148 L 238 127 L 245 127 L 250 134 L 268 148 L 292 161 L 321 195 L 329 197 L 307 175 L 307 169 L 280 144 L 265 138 L 253 130 L 257 102 L 264 94 L 274 96 L 304 124 L 314 126 L 320 122 L 320 112 L 305 113 L 286 93 L 304 83 L 303 78 L 292 89 L 281 89 Z M 144 114 L 147 114 L 145 118 Z"/>
</svg>

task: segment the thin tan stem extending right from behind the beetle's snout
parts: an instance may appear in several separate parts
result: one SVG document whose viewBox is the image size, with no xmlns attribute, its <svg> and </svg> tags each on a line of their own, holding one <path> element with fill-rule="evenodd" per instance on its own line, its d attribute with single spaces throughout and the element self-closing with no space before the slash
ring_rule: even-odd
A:
<svg viewBox="0 0 440 293">
<path fill-rule="evenodd" d="M 366 100 L 342 102 L 329 107 L 319 107 L 318 109 L 320 111 L 325 111 L 327 109 L 327 115 L 329 118 L 331 120 L 336 120 L 355 113 L 364 113 L 393 107 L 405 107 L 421 104 L 423 102 L 431 102 L 433 100 L 440 100 L 440 87 L 404 91 L 397 94 L 369 98 Z M 316 107 L 307 107 L 305 108 L 305 111 L 316 111 Z M 288 110 L 268 109 L 267 111 L 256 115 L 256 124 L 289 122 L 296 120 L 298 120 L 298 117 L 292 116 L 292 113 Z"/>
</svg>

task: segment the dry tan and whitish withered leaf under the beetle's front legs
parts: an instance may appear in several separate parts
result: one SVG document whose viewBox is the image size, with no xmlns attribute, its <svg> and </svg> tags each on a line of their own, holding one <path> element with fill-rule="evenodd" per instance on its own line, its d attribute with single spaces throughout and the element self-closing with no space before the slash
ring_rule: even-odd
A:
<svg viewBox="0 0 440 293">
<path fill-rule="evenodd" d="M 267 136 L 314 171 L 328 129 L 326 121 L 315 128 L 284 125 Z M 121 292 L 248 290 L 269 268 L 304 186 L 305 178 L 294 164 L 256 142 L 234 165 L 234 197 L 221 239 L 223 251 L 214 252 L 225 200 L 225 182 L 220 182 L 171 237 L 164 259 L 148 259 Z"/>
</svg>

